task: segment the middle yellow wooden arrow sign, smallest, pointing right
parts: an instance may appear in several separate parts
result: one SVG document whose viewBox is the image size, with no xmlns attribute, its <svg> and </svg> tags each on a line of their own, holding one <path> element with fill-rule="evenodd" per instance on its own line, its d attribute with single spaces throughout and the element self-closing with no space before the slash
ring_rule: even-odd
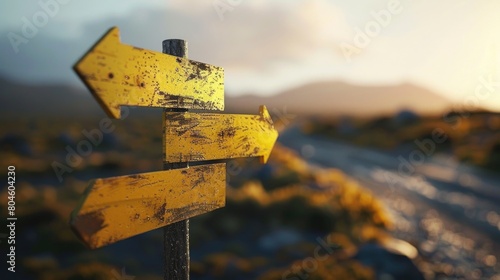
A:
<svg viewBox="0 0 500 280">
<path fill-rule="evenodd" d="M 265 106 L 259 115 L 167 112 L 166 162 L 260 157 L 266 163 L 278 132 Z"/>
</svg>

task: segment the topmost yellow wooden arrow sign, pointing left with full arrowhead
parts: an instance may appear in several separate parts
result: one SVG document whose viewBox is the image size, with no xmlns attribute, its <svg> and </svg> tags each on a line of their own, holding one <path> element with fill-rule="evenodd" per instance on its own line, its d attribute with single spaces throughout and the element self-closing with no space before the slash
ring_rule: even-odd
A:
<svg viewBox="0 0 500 280">
<path fill-rule="evenodd" d="M 117 27 L 74 69 L 113 118 L 120 105 L 224 110 L 222 68 L 121 44 Z"/>
</svg>

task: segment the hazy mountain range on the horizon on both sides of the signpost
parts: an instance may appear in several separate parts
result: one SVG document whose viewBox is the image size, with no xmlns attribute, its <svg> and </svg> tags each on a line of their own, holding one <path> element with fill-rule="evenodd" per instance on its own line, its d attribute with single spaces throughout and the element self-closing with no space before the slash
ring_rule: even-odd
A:
<svg viewBox="0 0 500 280">
<path fill-rule="evenodd" d="M 304 115 L 379 115 L 402 109 L 439 113 L 450 101 L 411 84 L 357 86 L 343 82 L 318 82 L 262 97 L 228 97 L 226 112 L 252 113 L 265 104 L 269 111 Z M 141 110 L 142 114 L 158 110 Z M 104 116 L 90 92 L 67 85 L 25 85 L 0 77 L 0 118 L 37 116 Z"/>
</svg>

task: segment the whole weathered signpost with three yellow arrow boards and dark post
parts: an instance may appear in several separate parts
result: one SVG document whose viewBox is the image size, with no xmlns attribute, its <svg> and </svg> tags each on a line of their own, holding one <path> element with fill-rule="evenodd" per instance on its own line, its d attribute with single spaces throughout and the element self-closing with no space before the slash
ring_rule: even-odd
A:
<svg viewBox="0 0 500 280">
<path fill-rule="evenodd" d="M 123 45 L 114 27 L 75 65 L 110 117 L 120 117 L 120 106 L 165 108 L 167 170 L 91 181 L 70 224 L 93 249 L 166 226 L 165 279 L 189 279 L 187 219 L 225 205 L 226 169 L 188 163 L 257 156 L 265 163 L 278 132 L 265 106 L 259 115 L 187 112 L 224 109 L 223 69 L 188 60 L 182 40 L 163 49 Z"/>
</svg>

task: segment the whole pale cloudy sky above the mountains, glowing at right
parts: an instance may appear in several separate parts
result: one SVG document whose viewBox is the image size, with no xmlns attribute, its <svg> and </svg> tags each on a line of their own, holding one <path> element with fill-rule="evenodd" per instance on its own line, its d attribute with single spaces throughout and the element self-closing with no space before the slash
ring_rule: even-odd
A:
<svg viewBox="0 0 500 280">
<path fill-rule="evenodd" d="M 222 66 L 226 93 L 316 81 L 413 83 L 500 111 L 497 0 L 18 0 L 0 2 L 0 75 L 83 87 L 72 65 L 112 26 L 128 45 Z M 430 101 L 431 102 L 431 101 Z"/>
</svg>

